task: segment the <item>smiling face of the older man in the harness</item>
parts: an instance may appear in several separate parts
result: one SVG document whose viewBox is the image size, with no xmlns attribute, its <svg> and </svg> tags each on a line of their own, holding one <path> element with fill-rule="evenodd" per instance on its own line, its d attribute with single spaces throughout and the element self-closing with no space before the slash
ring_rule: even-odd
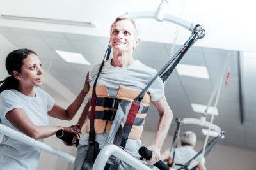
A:
<svg viewBox="0 0 256 170">
<path fill-rule="evenodd" d="M 130 20 L 119 20 L 116 22 L 110 35 L 110 43 L 113 50 L 132 52 L 138 45 L 139 38 L 136 29 Z"/>
</svg>

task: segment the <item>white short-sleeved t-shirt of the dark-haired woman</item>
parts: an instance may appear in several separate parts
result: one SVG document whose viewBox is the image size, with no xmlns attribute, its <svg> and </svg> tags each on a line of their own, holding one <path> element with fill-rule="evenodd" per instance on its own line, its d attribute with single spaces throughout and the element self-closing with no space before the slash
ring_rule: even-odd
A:
<svg viewBox="0 0 256 170">
<path fill-rule="evenodd" d="M 48 111 L 54 106 L 47 92 L 35 88 L 36 97 L 29 97 L 17 90 L 4 90 L 0 93 L 0 120 L 1 124 L 17 130 L 7 119 L 6 113 L 15 108 L 22 108 L 26 116 L 36 126 L 49 124 Z M 40 140 L 43 141 L 43 140 Z M 0 143 L 0 169 L 1 170 L 34 170 L 38 164 L 40 150 L 21 143 L 15 139 L 4 136 Z"/>
</svg>

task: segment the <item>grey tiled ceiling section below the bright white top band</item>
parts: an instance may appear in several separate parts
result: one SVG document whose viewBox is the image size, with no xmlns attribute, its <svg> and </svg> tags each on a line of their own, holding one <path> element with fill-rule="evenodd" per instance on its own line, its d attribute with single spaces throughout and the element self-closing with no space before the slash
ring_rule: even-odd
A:
<svg viewBox="0 0 256 170">
<path fill-rule="evenodd" d="M 57 55 L 55 50 L 64 50 L 68 52 L 79 52 L 86 57 L 92 64 L 100 62 L 108 45 L 108 38 L 99 36 L 86 36 L 79 34 L 68 34 L 49 31 L 35 31 L 29 29 L 18 29 L 10 27 L 0 27 L 2 34 L 15 48 L 31 48 L 38 53 L 42 61 L 46 74 L 51 76 L 67 87 L 72 96 L 78 94 L 83 87 L 86 73 L 91 66 L 82 64 L 71 64 L 65 62 Z M 175 46 L 177 49 L 179 45 Z M 134 58 L 140 59 L 146 65 L 159 70 L 168 60 L 172 45 L 166 43 L 156 43 L 141 41 L 134 52 Z M 202 48 L 193 46 L 184 58 L 180 61 L 182 64 L 193 64 L 196 66 L 205 66 L 209 72 L 209 80 L 202 78 L 191 78 L 188 76 L 179 76 L 177 71 L 173 71 L 165 84 L 165 93 L 170 104 L 174 118 L 200 118 L 201 113 L 193 112 L 191 103 L 207 104 L 211 92 L 220 77 L 223 74 L 223 67 L 227 59 L 229 50 L 220 50 L 215 48 Z M 214 117 L 214 124 L 218 125 L 227 132 L 226 137 L 221 143 L 238 148 L 256 150 L 256 115 L 253 110 L 253 101 L 256 99 L 255 89 L 255 57 L 243 57 L 242 73 L 244 86 L 244 124 L 240 122 L 239 108 L 239 81 L 238 81 L 238 52 L 233 52 L 232 62 L 230 64 L 230 79 L 228 86 L 223 83 L 221 87 L 220 101 L 218 111 L 220 115 Z M 254 65 L 255 66 L 255 65 Z M 56 99 L 69 101 L 67 90 L 60 90 L 52 85 L 54 81 L 48 81 L 44 89 L 51 93 Z M 154 107 L 150 108 L 145 124 L 146 131 L 155 131 L 157 125 L 157 111 Z M 210 116 L 207 116 L 210 121 Z M 169 133 L 173 134 L 175 122 Z M 201 140 L 204 139 L 201 127 L 196 125 L 184 125 L 185 130 L 192 130 L 198 134 Z"/>
</svg>

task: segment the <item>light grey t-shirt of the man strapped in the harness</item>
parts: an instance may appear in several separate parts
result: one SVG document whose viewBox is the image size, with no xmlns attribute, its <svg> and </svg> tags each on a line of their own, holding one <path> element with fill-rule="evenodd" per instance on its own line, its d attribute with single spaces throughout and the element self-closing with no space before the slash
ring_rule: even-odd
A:
<svg viewBox="0 0 256 170">
<path fill-rule="evenodd" d="M 90 86 L 93 87 L 94 81 L 97 77 L 100 64 L 92 67 L 90 71 Z M 111 60 L 104 62 L 104 66 L 100 73 L 97 85 L 106 85 L 109 97 L 116 97 L 120 85 L 125 87 L 132 87 L 134 89 L 144 89 L 148 82 L 156 75 L 157 71 L 142 64 L 139 60 L 127 67 L 114 67 L 111 65 Z M 161 78 L 157 78 L 148 91 L 151 96 L 151 101 L 157 101 L 164 96 L 164 83 Z M 97 134 L 96 141 L 98 141 L 100 148 L 106 146 L 107 133 Z M 88 134 L 80 139 L 81 145 L 88 145 Z M 141 147 L 141 140 L 128 139 L 125 150 L 134 157 L 140 157 L 138 150 Z"/>
</svg>

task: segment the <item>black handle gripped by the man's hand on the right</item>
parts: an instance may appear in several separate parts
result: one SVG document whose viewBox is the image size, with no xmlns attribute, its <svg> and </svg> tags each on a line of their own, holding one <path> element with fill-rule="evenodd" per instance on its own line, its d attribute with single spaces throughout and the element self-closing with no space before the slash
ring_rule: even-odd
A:
<svg viewBox="0 0 256 170">
<path fill-rule="evenodd" d="M 142 146 L 139 149 L 139 153 L 141 157 L 145 158 L 146 160 L 150 160 L 152 158 L 151 150 L 148 150 L 148 148 L 144 146 Z M 160 170 L 169 170 L 169 167 L 166 164 L 164 164 L 162 160 L 159 160 L 158 162 L 156 162 L 154 166 L 158 167 Z"/>
</svg>

